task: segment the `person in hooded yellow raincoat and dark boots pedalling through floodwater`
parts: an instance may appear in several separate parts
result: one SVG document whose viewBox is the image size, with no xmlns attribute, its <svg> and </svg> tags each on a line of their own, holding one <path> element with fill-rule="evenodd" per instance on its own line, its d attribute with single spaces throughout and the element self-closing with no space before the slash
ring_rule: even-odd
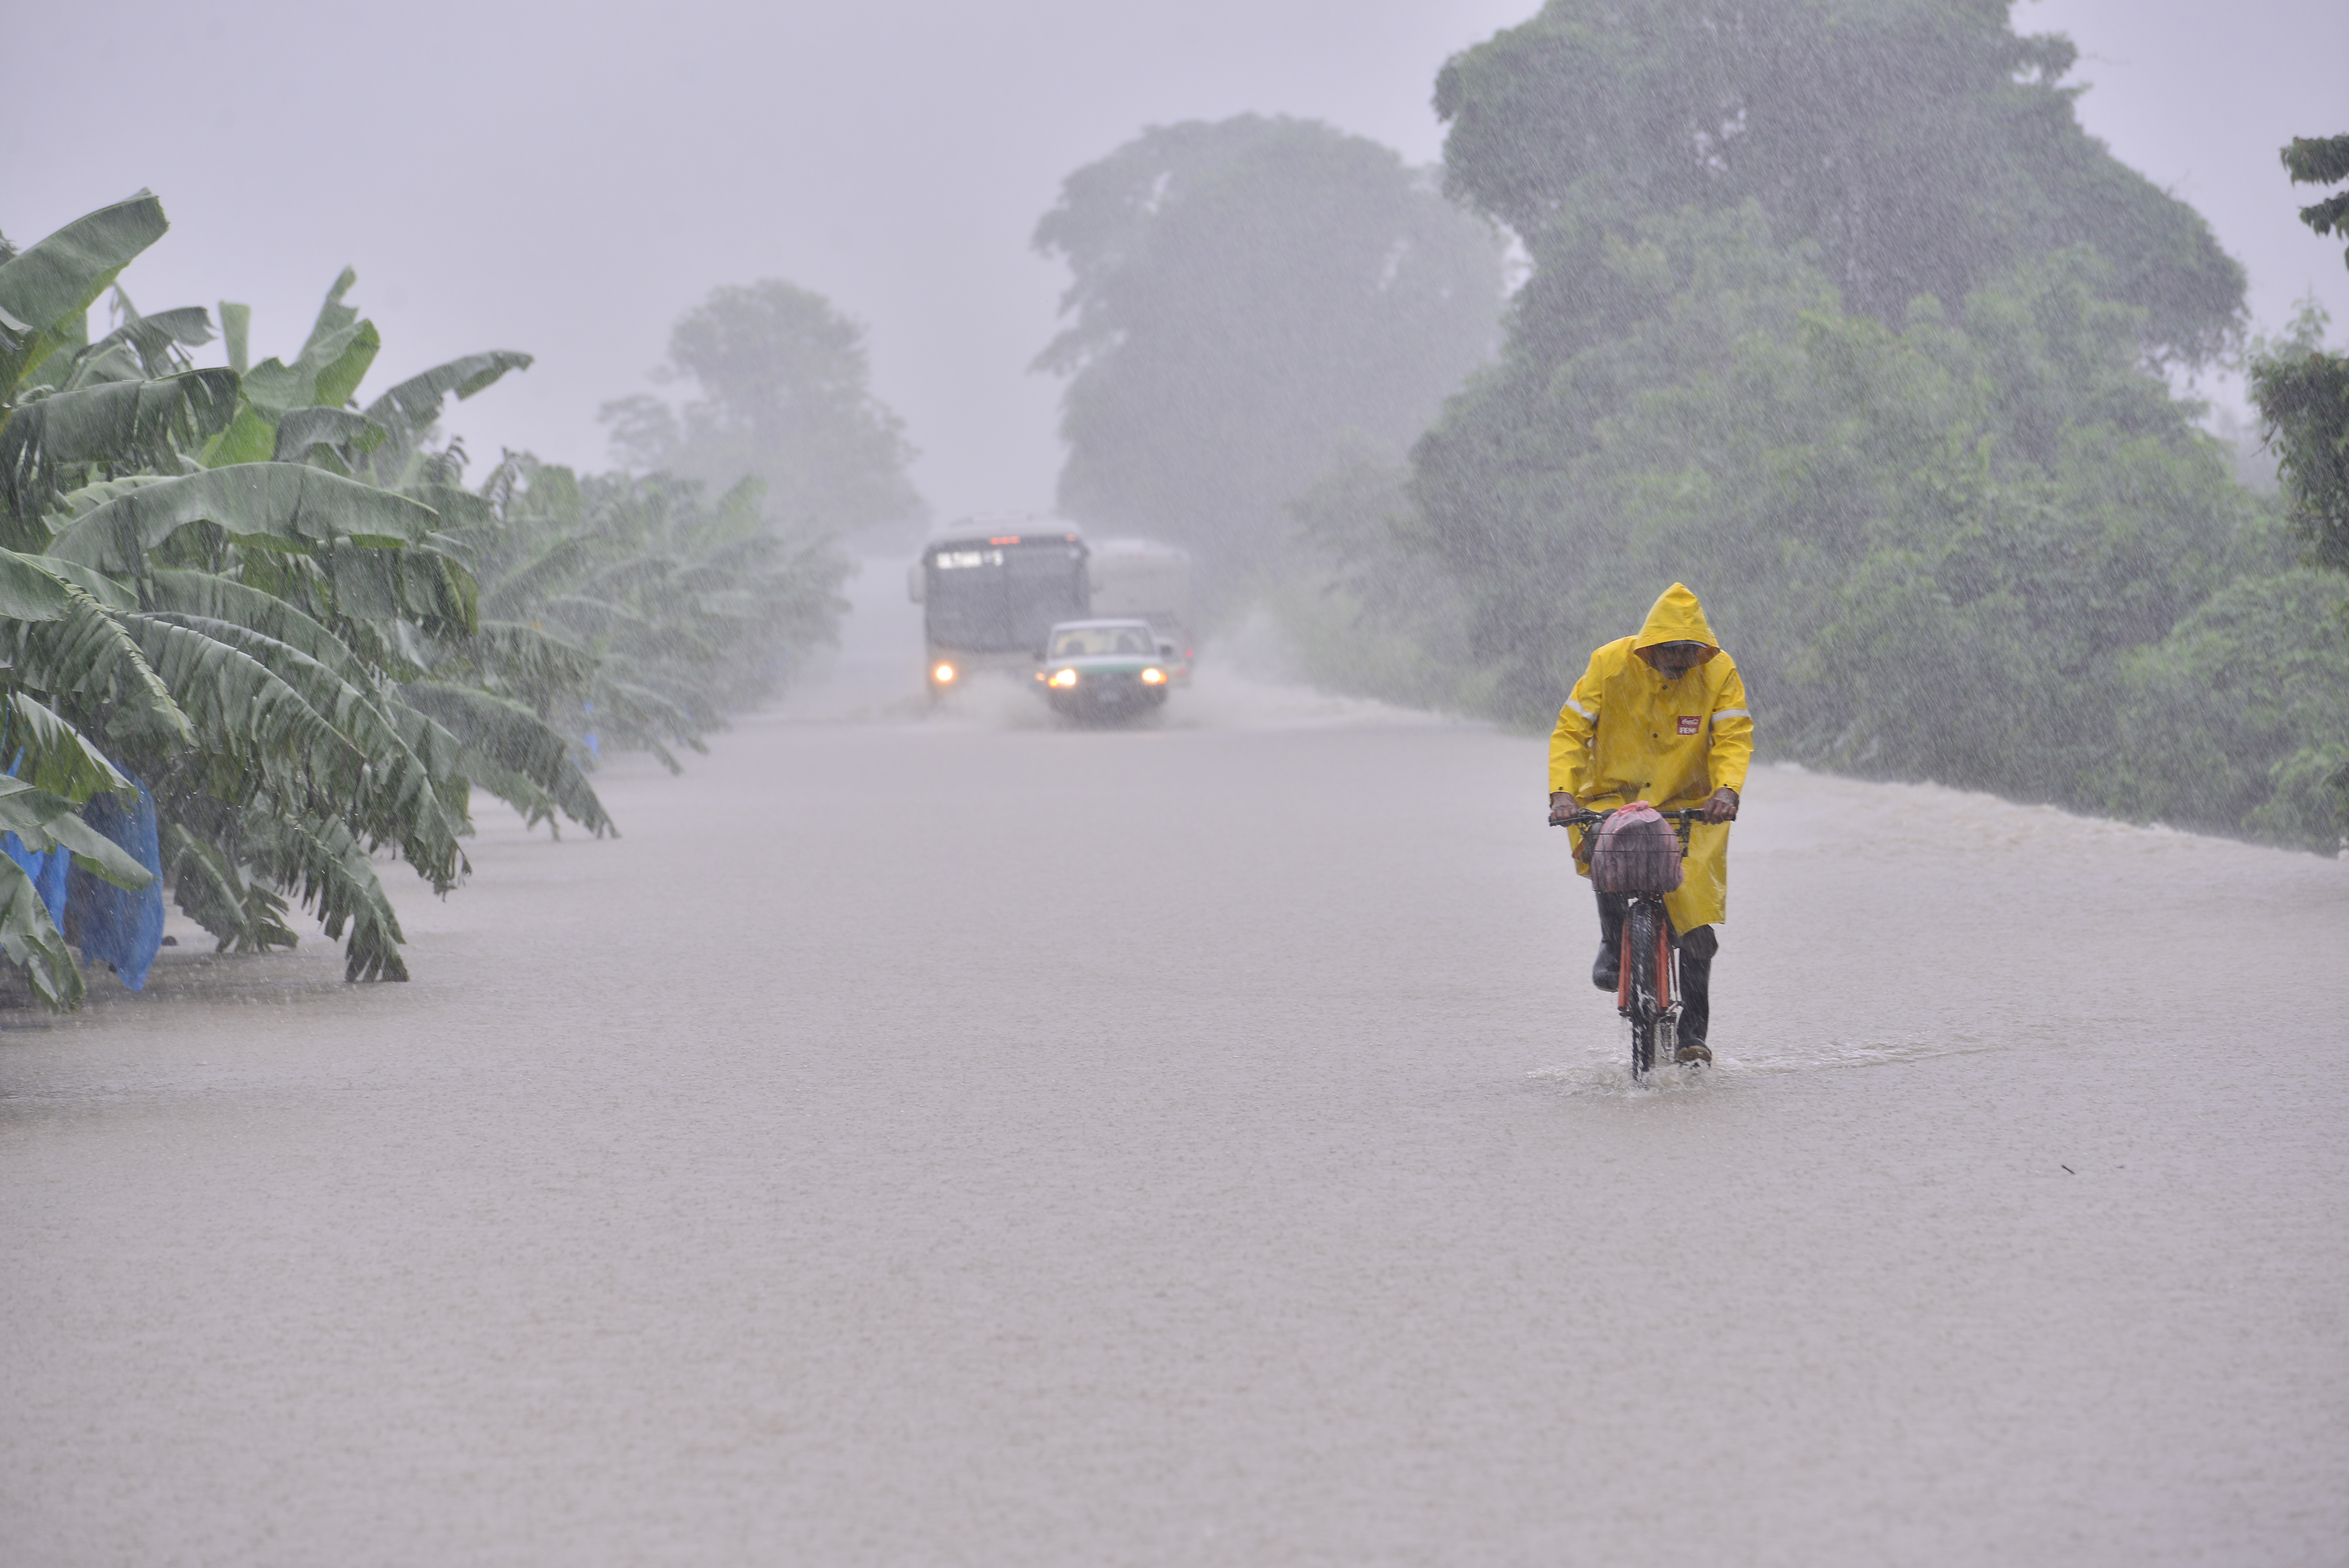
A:
<svg viewBox="0 0 2349 1568">
<path fill-rule="evenodd" d="M 1722 653 L 1705 608 L 1675 582 L 1647 613 L 1640 636 L 1593 650 L 1590 667 L 1557 709 L 1550 732 L 1550 822 L 1583 810 L 1647 800 L 1658 810 L 1701 807 L 1689 831 L 1680 890 L 1663 906 L 1680 932 L 1677 1061 L 1712 1061 L 1712 930 L 1729 904 L 1729 824 L 1738 815 L 1745 765 L 1755 753 L 1755 718 L 1745 681 Z M 1576 871 L 1590 876 L 1583 829 L 1574 829 Z M 1623 897 L 1602 892 L 1600 958 L 1590 984 L 1614 991 L 1621 967 Z"/>
</svg>

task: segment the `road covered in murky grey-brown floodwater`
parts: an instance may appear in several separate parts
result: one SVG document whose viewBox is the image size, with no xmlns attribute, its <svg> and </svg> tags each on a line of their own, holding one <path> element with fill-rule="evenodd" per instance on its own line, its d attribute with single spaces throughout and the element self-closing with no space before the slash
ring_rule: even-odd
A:
<svg viewBox="0 0 2349 1568">
<path fill-rule="evenodd" d="M 1635 1091 L 1536 739 L 841 711 L 5 1014 L 7 1563 L 2340 1561 L 2342 864 L 1759 770 Z"/>
</svg>

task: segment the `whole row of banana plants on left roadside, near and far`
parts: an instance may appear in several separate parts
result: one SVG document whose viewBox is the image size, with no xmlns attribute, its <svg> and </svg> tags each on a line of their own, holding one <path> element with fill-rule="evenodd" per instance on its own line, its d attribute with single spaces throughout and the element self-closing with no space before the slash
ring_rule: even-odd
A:
<svg viewBox="0 0 2349 1568">
<path fill-rule="evenodd" d="M 195 369 L 186 350 L 209 340 L 209 315 L 141 317 L 120 289 L 120 324 L 89 343 L 89 303 L 162 228 L 141 195 L 0 256 L 0 526 L 16 545 L 0 549 L 0 751 L 14 775 L 0 777 L 0 829 L 146 885 L 75 815 L 136 777 L 171 894 L 223 948 L 291 946 L 298 901 L 348 937 L 350 979 L 406 979 L 378 854 L 435 892 L 456 887 L 474 789 L 533 822 L 608 831 L 576 746 L 580 695 L 608 690 L 665 725 L 608 735 L 618 744 L 698 744 L 759 681 L 723 660 L 827 634 L 841 568 L 740 507 L 702 514 L 684 486 L 658 526 L 627 535 L 632 549 L 613 547 L 625 528 L 578 530 L 592 570 L 568 592 L 630 617 L 627 636 L 561 643 L 484 617 L 477 563 L 496 570 L 498 608 L 517 599 L 491 538 L 503 519 L 451 488 L 463 455 L 428 439 L 451 394 L 529 354 L 456 359 L 359 413 L 381 338 L 345 303 L 348 270 L 291 361 L 247 371 L 249 312 L 223 305 L 230 366 Z M 728 617 L 766 620 L 726 641 Z M 700 660 L 691 690 L 653 657 L 679 648 Z M 47 1005 L 82 998 L 14 861 L 0 861 L 0 953 Z"/>
</svg>

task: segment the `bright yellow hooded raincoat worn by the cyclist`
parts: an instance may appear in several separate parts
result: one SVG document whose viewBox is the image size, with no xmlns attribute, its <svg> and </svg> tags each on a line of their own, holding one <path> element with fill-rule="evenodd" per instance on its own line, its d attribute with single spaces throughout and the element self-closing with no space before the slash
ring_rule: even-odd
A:
<svg viewBox="0 0 2349 1568">
<path fill-rule="evenodd" d="M 1703 805 L 1724 784 L 1745 793 L 1755 718 L 1745 709 L 1745 681 L 1738 678 L 1736 660 L 1715 653 L 1668 681 L 1633 653 L 1656 643 L 1722 646 L 1705 624 L 1696 594 L 1675 582 L 1647 613 L 1640 636 L 1595 650 L 1550 732 L 1553 793 L 1562 789 L 1595 812 L 1630 800 L 1682 810 Z M 1581 843 L 1583 831 L 1574 829 L 1576 850 Z M 1576 871 L 1590 876 L 1583 864 Z M 1698 822 L 1691 829 L 1680 892 L 1665 894 L 1663 904 L 1682 932 L 1729 913 L 1727 822 Z"/>
</svg>

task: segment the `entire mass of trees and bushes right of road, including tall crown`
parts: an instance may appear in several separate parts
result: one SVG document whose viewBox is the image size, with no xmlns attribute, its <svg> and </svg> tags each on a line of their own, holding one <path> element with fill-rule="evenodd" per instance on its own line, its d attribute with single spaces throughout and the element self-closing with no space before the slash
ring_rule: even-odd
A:
<svg viewBox="0 0 2349 1568">
<path fill-rule="evenodd" d="M 1456 594 L 1513 723 L 1687 580 L 1776 756 L 2335 850 L 2342 627 L 2159 373 L 2241 270 L 2069 63 L 1999 0 L 1550 0 L 1454 59 L 1447 183 L 1534 275 L 1355 577 Z"/>
</svg>

